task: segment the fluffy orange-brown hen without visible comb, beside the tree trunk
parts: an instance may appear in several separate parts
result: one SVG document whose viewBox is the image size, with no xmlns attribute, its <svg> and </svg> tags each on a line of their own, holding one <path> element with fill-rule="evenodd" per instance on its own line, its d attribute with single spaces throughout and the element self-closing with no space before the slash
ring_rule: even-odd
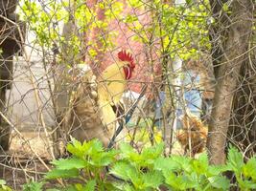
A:
<svg viewBox="0 0 256 191">
<path fill-rule="evenodd" d="M 184 147 L 184 153 L 187 154 L 191 148 L 191 157 L 195 157 L 205 147 L 208 130 L 202 121 L 191 113 L 181 117 L 181 122 L 183 129 L 177 132 L 176 138 Z"/>
</svg>

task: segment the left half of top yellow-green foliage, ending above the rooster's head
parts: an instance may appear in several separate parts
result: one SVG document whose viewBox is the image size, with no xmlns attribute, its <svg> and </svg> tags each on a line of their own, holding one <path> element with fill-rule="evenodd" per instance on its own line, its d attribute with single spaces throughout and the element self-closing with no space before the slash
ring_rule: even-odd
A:
<svg viewBox="0 0 256 191">
<path fill-rule="evenodd" d="M 105 10 L 104 20 L 98 18 L 97 11 Z M 52 51 L 53 45 L 62 48 L 62 56 L 72 54 L 78 56 L 84 47 L 88 49 L 89 56 L 95 57 L 97 52 L 105 51 L 114 47 L 114 39 L 117 32 L 106 32 L 111 19 L 119 18 L 123 11 L 123 4 L 118 1 L 101 2 L 95 8 L 89 8 L 82 0 L 78 1 L 37 1 L 22 0 L 19 14 L 23 20 L 29 23 L 29 31 L 36 36 L 34 44 L 42 51 Z M 68 37 L 62 35 L 62 27 L 67 23 L 76 25 Z M 84 41 L 84 33 L 98 30 L 99 36 L 96 41 Z M 104 33 L 101 35 L 100 33 Z M 88 36 L 87 36 L 88 37 Z M 67 48 L 69 50 L 67 50 Z M 68 53 L 66 53 L 69 51 Z M 70 63 L 65 63 L 66 65 Z"/>
</svg>

